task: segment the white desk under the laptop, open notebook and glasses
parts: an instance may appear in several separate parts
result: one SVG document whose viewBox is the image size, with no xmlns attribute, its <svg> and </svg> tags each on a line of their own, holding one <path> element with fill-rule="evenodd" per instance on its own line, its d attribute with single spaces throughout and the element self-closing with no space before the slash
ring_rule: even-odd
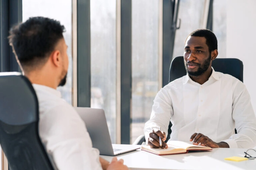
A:
<svg viewBox="0 0 256 170">
<path fill-rule="evenodd" d="M 132 170 L 256 170 L 256 159 L 241 162 L 226 161 L 231 156 L 243 157 L 247 149 L 215 148 L 212 151 L 193 151 L 188 154 L 158 156 L 140 149 L 117 156 Z M 112 156 L 102 158 L 111 161 Z"/>
</svg>

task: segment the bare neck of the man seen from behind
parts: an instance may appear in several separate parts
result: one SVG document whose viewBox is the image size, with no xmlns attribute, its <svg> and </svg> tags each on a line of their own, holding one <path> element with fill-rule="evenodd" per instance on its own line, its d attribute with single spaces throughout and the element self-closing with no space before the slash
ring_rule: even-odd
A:
<svg viewBox="0 0 256 170">
<path fill-rule="evenodd" d="M 31 83 L 33 84 L 40 84 L 43 86 L 51 87 L 53 89 L 56 89 L 58 87 L 58 83 L 53 81 L 54 78 L 52 78 L 51 74 L 47 74 L 47 72 L 25 72 L 25 76 L 28 77 L 29 81 L 31 81 Z"/>
</svg>

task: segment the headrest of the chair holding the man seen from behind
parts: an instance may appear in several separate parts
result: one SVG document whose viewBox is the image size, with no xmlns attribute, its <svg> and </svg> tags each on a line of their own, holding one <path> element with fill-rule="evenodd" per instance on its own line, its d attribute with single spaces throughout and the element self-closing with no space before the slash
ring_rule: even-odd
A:
<svg viewBox="0 0 256 170">
<path fill-rule="evenodd" d="M 38 99 L 31 82 L 18 72 L 0 73 L 0 120 L 9 125 L 38 121 Z"/>
</svg>

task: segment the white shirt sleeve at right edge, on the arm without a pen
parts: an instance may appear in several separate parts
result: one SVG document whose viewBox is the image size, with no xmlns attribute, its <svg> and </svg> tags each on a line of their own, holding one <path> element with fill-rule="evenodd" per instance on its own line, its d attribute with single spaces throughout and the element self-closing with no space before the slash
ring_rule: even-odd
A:
<svg viewBox="0 0 256 170">
<path fill-rule="evenodd" d="M 237 82 L 233 90 L 232 117 L 237 134 L 223 142 L 230 148 L 253 148 L 256 146 L 256 118 L 250 95 L 242 82 Z"/>
</svg>

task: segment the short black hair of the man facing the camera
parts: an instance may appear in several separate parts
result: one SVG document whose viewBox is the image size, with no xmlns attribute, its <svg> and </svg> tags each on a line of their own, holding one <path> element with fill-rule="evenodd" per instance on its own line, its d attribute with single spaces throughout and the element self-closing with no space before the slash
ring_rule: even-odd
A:
<svg viewBox="0 0 256 170">
<path fill-rule="evenodd" d="M 209 52 L 212 52 L 213 50 L 218 50 L 217 38 L 216 38 L 215 34 L 211 30 L 208 30 L 208 29 L 197 29 L 197 30 L 191 32 L 187 36 L 186 41 L 187 41 L 189 36 L 204 37 L 204 38 L 206 38 L 206 44 L 207 44 L 207 46 L 209 48 Z"/>
</svg>

